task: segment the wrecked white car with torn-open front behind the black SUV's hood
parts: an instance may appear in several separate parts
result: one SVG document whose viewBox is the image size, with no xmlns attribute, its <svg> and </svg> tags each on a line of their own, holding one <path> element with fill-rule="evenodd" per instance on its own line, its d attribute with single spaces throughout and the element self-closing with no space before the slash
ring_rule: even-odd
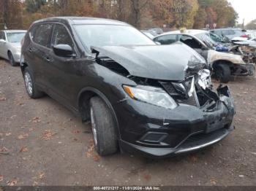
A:
<svg viewBox="0 0 256 191">
<path fill-rule="evenodd" d="M 230 52 L 217 52 L 209 45 L 211 42 L 208 41 L 211 41 L 211 38 L 203 39 L 201 37 L 205 33 L 206 31 L 203 30 L 171 31 L 156 36 L 154 41 L 161 44 L 183 42 L 192 47 L 206 59 L 220 82 L 229 82 L 231 75 L 252 76 L 254 74 L 255 55 L 239 52 L 238 47 L 233 47 Z"/>
</svg>

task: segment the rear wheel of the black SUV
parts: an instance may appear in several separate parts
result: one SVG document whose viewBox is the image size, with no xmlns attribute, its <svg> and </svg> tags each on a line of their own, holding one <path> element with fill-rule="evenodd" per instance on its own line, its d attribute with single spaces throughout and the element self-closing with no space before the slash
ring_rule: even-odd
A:
<svg viewBox="0 0 256 191">
<path fill-rule="evenodd" d="M 34 82 L 34 77 L 29 70 L 29 67 L 26 67 L 23 72 L 23 78 L 25 82 L 26 92 L 28 93 L 29 97 L 31 98 L 41 98 L 44 93 L 39 91 L 37 85 Z"/>
</svg>

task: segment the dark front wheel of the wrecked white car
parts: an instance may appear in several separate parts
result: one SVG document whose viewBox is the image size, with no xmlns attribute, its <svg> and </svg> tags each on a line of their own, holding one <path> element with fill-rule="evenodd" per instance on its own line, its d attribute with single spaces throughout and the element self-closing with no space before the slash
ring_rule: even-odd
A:
<svg viewBox="0 0 256 191">
<path fill-rule="evenodd" d="M 231 78 L 230 66 L 225 63 L 219 63 L 214 67 L 214 74 L 219 82 L 227 83 Z"/>
</svg>

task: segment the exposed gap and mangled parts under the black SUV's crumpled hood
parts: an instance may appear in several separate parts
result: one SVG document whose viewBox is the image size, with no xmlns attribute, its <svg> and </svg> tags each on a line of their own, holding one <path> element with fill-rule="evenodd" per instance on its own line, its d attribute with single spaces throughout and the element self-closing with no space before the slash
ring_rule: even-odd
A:
<svg viewBox="0 0 256 191">
<path fill-rule="evenodd" d="M 219 101 L 219 95 L 215 93 L 211 85 L 211 71 L 205 66 L 188 67 L 184 71 L 183 81 L 158 80 L 144 77 L 135 77 L 129 74 L 127 69 L 108 57 L 97 57 L 97 63 L 108 69 L 132 79 L 138 85 L 160 87 L 164 89 L 178 104 L 188 104 L 202 109 L 214 109 Z"/>
</svg>

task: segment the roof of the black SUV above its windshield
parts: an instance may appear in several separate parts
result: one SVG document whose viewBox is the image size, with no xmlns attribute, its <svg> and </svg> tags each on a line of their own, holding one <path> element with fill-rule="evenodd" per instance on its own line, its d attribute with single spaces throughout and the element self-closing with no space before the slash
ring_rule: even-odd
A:
<svg viewBox="0 0 256 191">
<path fill-rule="evenodd" d="M 106 18 L 98 18 L 98 17 L 48 17 L 45 19 L 37 20 L 35 23 L 43 23 L 43 22 L 60 22 L 60 23 L 70 23 L 70 24 L 101 24 L 101 25 L 121 25 L 121 26 L 129 26 L 129 24 L 118 21 L 111 20 Z"/>
</svg>

